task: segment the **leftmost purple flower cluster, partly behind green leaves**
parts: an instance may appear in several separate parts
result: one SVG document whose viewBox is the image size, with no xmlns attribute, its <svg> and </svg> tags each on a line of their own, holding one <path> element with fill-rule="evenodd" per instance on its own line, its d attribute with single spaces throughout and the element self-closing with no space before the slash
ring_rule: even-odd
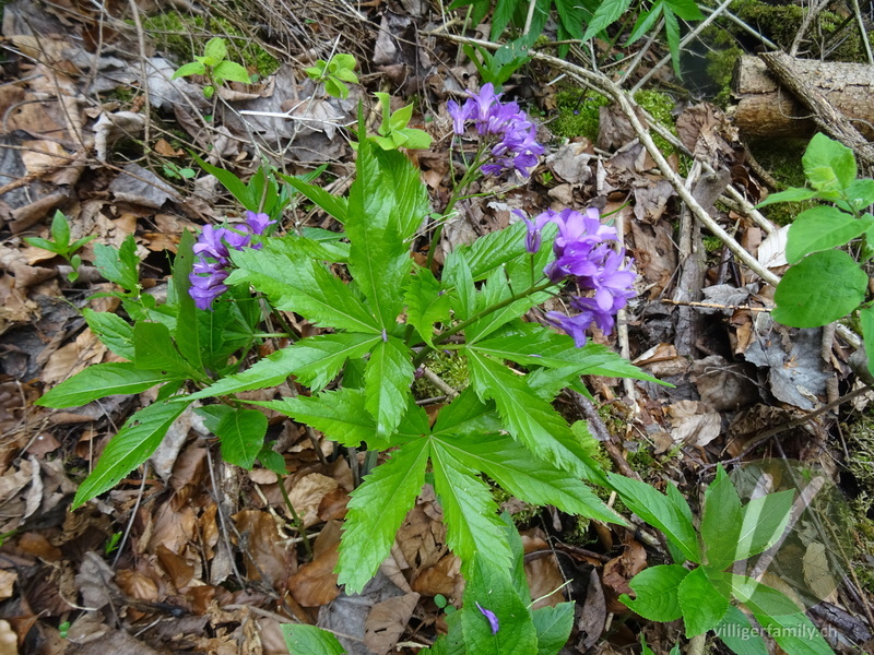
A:
<svg viewBox="0 0 874 655">
<path fill-rule="evenodd" d="M 271 221 L 267 214 L 246 212 L 246 223 L 239 227 L 208 225 L 203 228 L 194 243 L 197 260 L 189 276 L 191 287 L 188 289 L 198 309 L 210 309 L 212 301 L 227 290 L 224 282 L 231 275 L 231 249 L 243 250 L 251 246 L 259 250 L 261 243 L 252 245 L 252 235 L 264 234 L 268 225 L 273 223 L 275 221 Z"/>
</svg>

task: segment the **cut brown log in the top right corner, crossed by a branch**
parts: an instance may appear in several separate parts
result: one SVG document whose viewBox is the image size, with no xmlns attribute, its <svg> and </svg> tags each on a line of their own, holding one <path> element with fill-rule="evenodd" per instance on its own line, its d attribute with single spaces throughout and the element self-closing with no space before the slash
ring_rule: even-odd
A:
<svg viewBox="0 0 874 655">
<path fill-rule="evenodd" d="M 803 86 L 822 96 L 866 139 L 874 139 L 874 67 L 777 57 Z M 791 90 L 782 87 L 758 57 L 742 57 L 734 69 L 735 124 L 747 135 L 810 136 L 816 131 L 815 112 Z"/>
</svg>

